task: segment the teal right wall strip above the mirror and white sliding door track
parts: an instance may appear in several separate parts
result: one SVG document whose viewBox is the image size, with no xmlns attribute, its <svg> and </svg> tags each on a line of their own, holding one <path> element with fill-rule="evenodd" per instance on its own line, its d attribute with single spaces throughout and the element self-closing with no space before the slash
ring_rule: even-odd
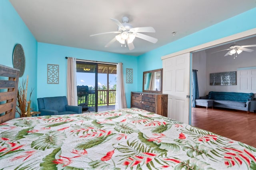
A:
<svg viewBox="0 0 256 170">
<path fill-rule="evenodd" d="M 256 8 L 253 8 L 228 20 L 140 55 L 138 57 L 138 75 L 142 75 L 144 71 L 162 68 L 162 56 L 255 28 L 255 16 Z M 141 91 L 142 81 L 140 77 L 138 78 L 138 90 Z"/>
</svg>

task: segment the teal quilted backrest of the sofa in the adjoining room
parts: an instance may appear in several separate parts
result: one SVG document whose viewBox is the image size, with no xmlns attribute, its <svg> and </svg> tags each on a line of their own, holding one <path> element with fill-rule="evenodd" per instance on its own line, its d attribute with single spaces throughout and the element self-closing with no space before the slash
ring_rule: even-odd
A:
<svg viewBox="0 0 256 170">
<path fill-rule="evenodd" d="M 236 102 L 247 102 L 253 100 L 253 93 L 238 93 L 238 92 L 209 92 L 209 99 L 213 100 L 230 100 Z"/>
</svg>

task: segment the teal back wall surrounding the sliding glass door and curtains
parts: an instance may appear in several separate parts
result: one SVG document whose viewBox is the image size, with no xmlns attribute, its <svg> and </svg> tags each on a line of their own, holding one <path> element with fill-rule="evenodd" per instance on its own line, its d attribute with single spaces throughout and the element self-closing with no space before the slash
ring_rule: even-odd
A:
<svg viewBox="0 0 256 170">
<path fill-rule="evenodd" d="M 38 98 L 51 96 L 66 96 L 67 59 L 74 57 L 91 61 L 103 61 L 110 63 L 123 63 L 124 84 L 127 106 L 130 107 L 130 92 L 137 91 L 137 74 L 133 74 L 133 83 L 126 83 L 126 68 L 132 68 L 137 73 L 137 58 L 134 56 L 106 53 L 87 49 L 78 49 L 61 45 L 38 43 Z M 135 64 L 134 64 L 135 63 Z M 59 84 L 47 84 L 47 64 L 59 65 Z"/>
</svg>

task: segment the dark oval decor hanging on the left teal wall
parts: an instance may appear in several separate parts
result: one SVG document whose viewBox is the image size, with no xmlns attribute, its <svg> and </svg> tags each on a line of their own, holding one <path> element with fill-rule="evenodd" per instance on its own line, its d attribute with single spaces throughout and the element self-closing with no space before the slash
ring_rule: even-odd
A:
<svg viewBox="0 0 256 170">
<path fill-rule="evenodd" d="M 23 47 L 20 44 L 16 44 L 14 47 L 12 63 L 14 68 L 20 69 L 21 77 L 24 74 L 26 62 Z"/>
</svg>

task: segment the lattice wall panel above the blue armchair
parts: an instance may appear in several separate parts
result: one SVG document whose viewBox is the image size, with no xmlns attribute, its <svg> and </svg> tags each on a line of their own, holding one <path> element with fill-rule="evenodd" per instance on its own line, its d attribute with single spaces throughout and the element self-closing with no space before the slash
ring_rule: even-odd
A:
<svg viewBox="0 0 256 170">
<path fill-rule="evenodd" d="M 59 65 L 47 64 L 47 84 L 59 84 Z"/>
</svg>

